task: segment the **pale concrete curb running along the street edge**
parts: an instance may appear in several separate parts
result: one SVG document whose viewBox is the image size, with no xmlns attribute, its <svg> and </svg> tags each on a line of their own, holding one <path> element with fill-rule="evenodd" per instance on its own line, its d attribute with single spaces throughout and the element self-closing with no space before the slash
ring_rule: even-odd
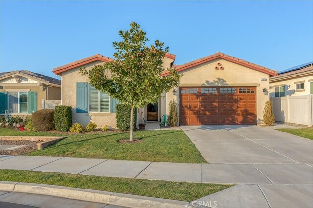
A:
<svg viewBox="0 0 313 208">
<path fill-rule="evenodd" d="M 12 181 L 0 181 L 0 191 L 49 195 L 132 208 L 193 208 L 185 201 Z"/>
</svg>

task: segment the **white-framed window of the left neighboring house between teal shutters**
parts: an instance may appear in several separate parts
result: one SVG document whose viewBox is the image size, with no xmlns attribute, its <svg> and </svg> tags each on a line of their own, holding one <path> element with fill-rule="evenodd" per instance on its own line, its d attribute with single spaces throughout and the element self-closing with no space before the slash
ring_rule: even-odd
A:
<svg viewBox="0 0 313 208">
<path fill-rule="evenodd" d="M 28 92 L 8 92 L 8 110 L 12 113 L 28 113 Z"/>
</svg>

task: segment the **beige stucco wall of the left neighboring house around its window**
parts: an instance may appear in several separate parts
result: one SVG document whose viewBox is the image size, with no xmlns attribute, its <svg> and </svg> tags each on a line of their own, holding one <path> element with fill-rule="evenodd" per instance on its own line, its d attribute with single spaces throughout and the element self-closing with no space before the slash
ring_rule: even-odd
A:
<svg viewBox="0 0 313 208">
<path fill-rule="evenodd" d="M 38 84 L 29 85 L 29 84 L 14 84 L 14 85 L 8 85 L 8 84 L 1 84 L 0 91 L 5 92 L 10 90 L 21 90 L 21 91 L 36 91 L 37 92 L 37 110 L 42 109 L 41 107 L 41 100 L 46 100 L 46 87 L 44 90 L 41 90 L 41 87 Z M 19 113 L 20 114 L 20 113 Z"/>
</svg>

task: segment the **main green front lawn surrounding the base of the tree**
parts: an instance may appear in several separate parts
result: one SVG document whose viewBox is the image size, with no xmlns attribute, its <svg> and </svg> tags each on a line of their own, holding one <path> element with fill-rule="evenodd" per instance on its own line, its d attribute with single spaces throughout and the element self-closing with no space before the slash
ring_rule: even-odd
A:
<svg viewBox="0 0 313 208">
<path fill-rule="evenodd" d="M 120 143 L 121 139 L 128 140 L 129 133 L 72 134 L 55 145 L 28 155 L 207 163 L 183 131 L 137 131 L 134 140 L 139 141 Z"/>
</svg>

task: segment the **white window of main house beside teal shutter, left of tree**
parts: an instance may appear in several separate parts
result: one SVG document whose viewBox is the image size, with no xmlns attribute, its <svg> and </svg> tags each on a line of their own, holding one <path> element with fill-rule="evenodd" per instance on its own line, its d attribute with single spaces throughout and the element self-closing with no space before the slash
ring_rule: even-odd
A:
<svg viewBox="0 0 313 208">
<path fill-rule="evenodd" d="M 89 85 L 89 112 L 110 112 L 109 93 L 103 93 Z"/>
</svg>

